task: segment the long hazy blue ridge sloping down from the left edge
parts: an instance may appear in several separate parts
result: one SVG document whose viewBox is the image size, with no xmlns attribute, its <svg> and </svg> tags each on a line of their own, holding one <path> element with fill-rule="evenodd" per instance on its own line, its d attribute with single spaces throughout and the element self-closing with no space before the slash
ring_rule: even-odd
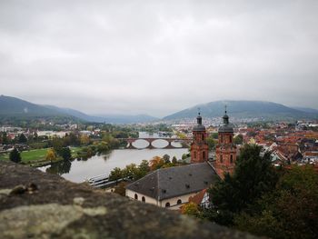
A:
<svg viewBox="0 0 318 239">
<path fill-rule="evenodd" d="M 0 95 L 0 118 L 60 117 L 95 123 L 134 124 L 154 121 L 150 115 L 86 115 L 70 108 L 35 105 L 19 98 Z"/>
</svg>

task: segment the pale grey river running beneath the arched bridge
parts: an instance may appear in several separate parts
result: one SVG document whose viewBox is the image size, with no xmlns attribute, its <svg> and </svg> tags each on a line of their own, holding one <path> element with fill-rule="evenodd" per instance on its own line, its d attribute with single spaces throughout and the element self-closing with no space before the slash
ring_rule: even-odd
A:
<svg viewBox="0 0 318 239">
<path fill-rule="evenodd" d="M 157 134 L 149 135 L 140 133 L 140 137 L 158 137 Z M 157 140 L 155 146 L 163 147 L 166 143 L 163 140 Z M 134 143 L 136 147 L 144 147 L 145 142 L 138 140 Z M 187 148 L 174 149 L 116 149 L 109 154 L 95 155 L 87 160 L 77 160 L 72 162 L 60 162 L 44 167 L 40 167 L 43 172 L 60 174 L 65 179 L 82 183 L 86 178 L 100 174 L 109 174 L 114 167 L 124 168 L 127 164 L 140 164 L 144 159 L 150 160 L 154 156 L 170 155 L 171 159 L 175 156 L 181 159 L 183 154 L 187 154 Z"/>
</svg>

